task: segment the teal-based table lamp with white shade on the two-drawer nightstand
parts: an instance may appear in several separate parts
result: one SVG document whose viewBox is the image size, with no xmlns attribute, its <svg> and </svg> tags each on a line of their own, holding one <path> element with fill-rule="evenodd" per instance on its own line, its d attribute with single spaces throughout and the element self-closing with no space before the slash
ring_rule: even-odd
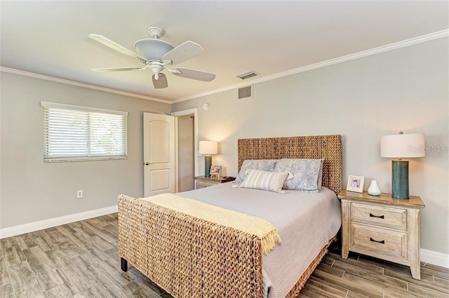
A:
<svg viewBox="0 0 449 298">
<path fill-rule="evenodd" d="M 391 161 L 391 196 L 408 199 L 408 161 L 402 158 L 426 156 L 424 134 L 382 135 L 380 137 L 380 156 L 398 158 Z"/>
</svg>

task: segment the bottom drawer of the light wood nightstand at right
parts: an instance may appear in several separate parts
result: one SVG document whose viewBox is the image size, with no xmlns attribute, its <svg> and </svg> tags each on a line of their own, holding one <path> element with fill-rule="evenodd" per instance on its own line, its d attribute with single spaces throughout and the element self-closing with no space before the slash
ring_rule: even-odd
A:
<svg viewBox="0 0 449 298">
<path fill-rule="evenodd" d="M 351 224 L 350 239 L 349 250 L 391 261 L 394 261 L 391 257 L 407 259 L 407 233 L 363 224 Z"/>
</svg>

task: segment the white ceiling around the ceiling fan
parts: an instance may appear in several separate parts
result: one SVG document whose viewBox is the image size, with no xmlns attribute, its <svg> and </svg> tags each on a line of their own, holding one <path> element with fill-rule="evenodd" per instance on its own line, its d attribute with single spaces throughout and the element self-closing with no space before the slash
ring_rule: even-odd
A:
<svg viewBox="0 0 449 298">
<path fill-rule="evenodd" d="M 1 1 L 1 66 L 129 93 L 180 100 L 241 83 L 248 70 L 272 76 L 448 29 L 448 1 Z M 133 49 L 147 27 L 178 46 L 205 52 L 179 67 L 213 72 L 207 83 L 166 73 L 92 72 L 142 65 L 88 38 L 95 33 Z M 250 83 L 251 80 L 246 81 Z"/>
</svg>

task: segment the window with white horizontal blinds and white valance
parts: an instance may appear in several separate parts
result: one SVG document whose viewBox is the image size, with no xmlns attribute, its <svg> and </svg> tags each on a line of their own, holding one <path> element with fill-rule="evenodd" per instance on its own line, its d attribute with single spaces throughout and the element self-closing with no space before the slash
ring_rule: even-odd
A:
<svg viewBox="0 0 449 298">
<path fill-rule="evenodd" d="M 127 158 L 128 113 L 41 102 L 43 161 Z"/>
</svg>

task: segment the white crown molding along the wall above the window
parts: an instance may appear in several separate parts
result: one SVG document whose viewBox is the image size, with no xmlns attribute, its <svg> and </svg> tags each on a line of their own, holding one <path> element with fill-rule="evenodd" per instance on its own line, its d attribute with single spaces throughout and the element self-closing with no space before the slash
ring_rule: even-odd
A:
<svg viewBox="0 0 449 298">
<path fill-rule="evenodd" d="M 95 86 L 95 85 L 91 85 L 88 83 L 80 83 L 80 82 L 76 82 L 76 81 L 70 81 L 67 79 L 59 79 L 59 78 L 55 78 L 54 76 L 46 76 L 43 74 L 36 74 L 34 72 L 25 72 L 23 70 L 13 69 L 13 68 L 9 68 L 9 67 L 0 66 L 0 72 L 7 72 L 9 74 L 18 74 L 19 76 L 29 76 L 30 78 L 41 79 L 41 80 L 45 80 L 45 81 L 52 81 L 55 83 L 63 83 L 66 85 L 72 85 L 72 86 L 81 87 L 81 88 L 88 88 L 88 89 L 103 91 L 103 92 L 107 92 L 107 93 L 114 93 L 114 94 L 118 94 L 118 95 L 129 96 L 129 97 L 135 97 L 135 98 L 140 98 L 142 100 L 152 100 L 153 102 L 162 102 L 164 104 L 172 103 L 172 102 L 170 102 L 170 100 L 162 100 L 161 98 L 140 95 L 140 94 L 136 94 L 136 93 L 130 93 L 130 92 L 116 90 L 116 89 L 112 89 L 112 88 Z"/>
</svg>

